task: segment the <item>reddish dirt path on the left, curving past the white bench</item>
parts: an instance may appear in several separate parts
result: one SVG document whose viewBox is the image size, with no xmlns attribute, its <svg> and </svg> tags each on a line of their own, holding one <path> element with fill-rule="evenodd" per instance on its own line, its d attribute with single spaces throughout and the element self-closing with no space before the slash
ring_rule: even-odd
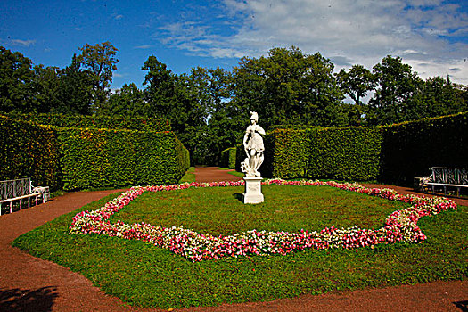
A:
<svg viewBox="0 0 468 312">
<path fill-rule="evenodd" d="M 128 311 L 83 275 L 11 246 L 21 234 L 116 192 L 67 193 L 0 217 L 0 311 Z"/>
</svg>

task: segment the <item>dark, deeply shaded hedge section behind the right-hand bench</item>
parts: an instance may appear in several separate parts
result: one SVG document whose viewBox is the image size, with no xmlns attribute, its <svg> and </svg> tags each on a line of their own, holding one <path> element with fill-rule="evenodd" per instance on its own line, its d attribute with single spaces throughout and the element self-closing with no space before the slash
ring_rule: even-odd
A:
<svg viewBox="0 0 468 312">
<path fill-rule="evenodd" d="M 468 112 L 383 127 L 379 180 L 412 185 L 431 167 L 468 167 Z"/>
</svg>

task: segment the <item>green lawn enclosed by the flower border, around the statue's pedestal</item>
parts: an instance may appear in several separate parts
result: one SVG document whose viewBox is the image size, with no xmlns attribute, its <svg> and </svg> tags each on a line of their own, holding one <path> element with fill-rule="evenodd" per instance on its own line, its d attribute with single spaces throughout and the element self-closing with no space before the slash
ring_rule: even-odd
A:
<svg viewBox="0 0 468 312">
<path fill-rule="evenodd" d="M 184 226 L 218 236 L 252 229 L 299 232 L 320 231 L 325 226 L 377 228 L 391 212 L 409 207 L 323 186 L 264 185 L 266 200 L 257 205 L 243 204 L 243 192 L 243 186 L 146 192 L 111 221 Z"/>
</svg>

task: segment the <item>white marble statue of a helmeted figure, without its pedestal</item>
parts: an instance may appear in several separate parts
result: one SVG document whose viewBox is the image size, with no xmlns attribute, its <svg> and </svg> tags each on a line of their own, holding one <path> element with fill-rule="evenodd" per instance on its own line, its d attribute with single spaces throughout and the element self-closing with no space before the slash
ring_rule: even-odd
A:
<svg viewBox="0 0 468 312">
<path fill-rule="evenodd" d="M 250 125 L 243 135 L 243 148 L 247 158 L 241 163 L 241 168 L 242 172 L 245 172 L 245 177 L 261 177 L 259 167 L 263 163 L 263 151 L 265 151 L 261 135 L 265 135 L 265 130 L 257 125 L 258 121 L 259 114 L 250 111 Z"/>
</svg>

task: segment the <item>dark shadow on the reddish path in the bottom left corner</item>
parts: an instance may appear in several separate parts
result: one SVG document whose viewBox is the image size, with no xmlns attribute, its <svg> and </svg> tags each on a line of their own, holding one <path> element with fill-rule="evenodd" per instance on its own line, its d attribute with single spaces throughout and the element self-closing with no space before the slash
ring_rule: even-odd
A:
<svg viewBox="0 0 468 312">
<path fill-rule="evenodd" d="M 58 296 L 56 287 L 0 290 L 0 311 L 52 311 Z"/>
</svg>

